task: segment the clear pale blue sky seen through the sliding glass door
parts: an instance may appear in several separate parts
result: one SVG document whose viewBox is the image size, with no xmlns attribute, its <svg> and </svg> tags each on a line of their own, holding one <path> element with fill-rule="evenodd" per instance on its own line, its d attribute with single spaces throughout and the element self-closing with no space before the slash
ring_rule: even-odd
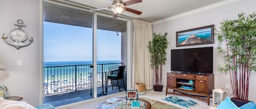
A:
<svg viewBox="0 0 256 109">
<path fill-rule="evenodd" d="M 97 60 L 121 60 L 121 33 L 97 30 Z M 44 22 L 44 62 L 92 61 L 92 28 Z"/>
</svg>

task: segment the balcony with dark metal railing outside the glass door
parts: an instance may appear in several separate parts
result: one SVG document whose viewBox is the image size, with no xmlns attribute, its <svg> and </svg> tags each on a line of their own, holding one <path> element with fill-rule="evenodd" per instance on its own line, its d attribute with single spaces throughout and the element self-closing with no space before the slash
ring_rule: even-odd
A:
<svg viewBox="0 0 256 109">
<path fill-rule="evenodd" d="M 98 97 L 119 92 L 116 81 L 106 81 L 109 69 L 118 69 L 122 63 L 97 65 Z M 93 98 L 93 68 L 91 65 L 44 67 L 44 104 L 61 106 Z M 126 74 L 124 74 L 126 81 Z M 120 81 L 120 83 L 122 83 Z M 108 92 L 105 86 L 108 84 Z M 112 89 L 112 84 L 114 89 Z M 124 91 L 121 85 L 121 91 Z"/>
</svg>

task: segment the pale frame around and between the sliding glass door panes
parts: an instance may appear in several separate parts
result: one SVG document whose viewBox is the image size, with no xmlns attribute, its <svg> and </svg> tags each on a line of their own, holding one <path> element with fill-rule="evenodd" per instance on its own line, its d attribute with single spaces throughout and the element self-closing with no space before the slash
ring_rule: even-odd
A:
<svg viewBox="0 0 256 109">
<path fill-rule="evenodd" d="M 44 88 L 43 88 L 43 78 L 44 78 L 44 35 L 43 35 L 43 22 L 44 22 L 44 9 L 43 3 L 51 3 L 56 5 L 61 5 L 68 8 L 78 9 L 86 12 L 91 12 L 85 5 L 66 1 L 51 1 L 51 0 L 40 0 L 39 1 L 39 104 L 43 104 L 44 99 Z M 111 17 L 111 13 L 108 12 L 91 12 L 93 14 L 93 98 L 97 98 L 97 15 Z M 133 18 L 120 16 L 116 18 L 117 20 L 126 21 L 127 22 L 127 89 L 133 89 L 133 72 L 132 72 L 132 20 Z M 81 102 L 80 102 L 81 103 Z M 69 104 L 72 105 L 72 104 Z M 64 107 L 67 105 L 64 105 Z M 63 106 L 61 106 L 63 107 Z"/>
</svg>

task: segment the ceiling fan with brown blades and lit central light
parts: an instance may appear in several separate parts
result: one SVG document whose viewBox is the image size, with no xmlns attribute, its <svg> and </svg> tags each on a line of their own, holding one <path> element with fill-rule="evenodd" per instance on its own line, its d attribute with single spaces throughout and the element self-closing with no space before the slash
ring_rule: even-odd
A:
<svg viewBox="0 0 256 109">
<path fill-rule="evenodd" d="M 122 0 L 111 0 L 111 2 L 113 4 L 112 7 L 92 9 L 90 11 L 98 11 L 98 10 L 111 9 L 114 12 L 114 15 L 113 15 L 114 18 L 117 18 L 118 15 L 123 12 L 123 10 L 128 11 L 128 12 L 132 12 L 132 13 L 137 14 L 137 15 L 142 14 L 141 11 L 130 9 L 130 8 L 126 7 L 128 5 L 140 3 L 140 2 L 142 2 L 142 0 L 130 0 L 130 1 L 127 1 L 127 2 L 123 2 Z"/>
</svg>

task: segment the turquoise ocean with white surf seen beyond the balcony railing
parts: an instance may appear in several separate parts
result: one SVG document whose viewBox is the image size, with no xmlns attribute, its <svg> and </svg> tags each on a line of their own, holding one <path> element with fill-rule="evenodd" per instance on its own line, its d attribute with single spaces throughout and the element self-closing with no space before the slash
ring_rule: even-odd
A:
<svg viewBox="0 0 256 109">
<path fill-rule="evenodd" d="M 80 80 L 91 78 L 93 69 L 90 68 L 90 65 L 92 65 L 92 61 L 44 62 L 45 84 L 58 81 L 67 82 L 75 78 Z M 98 78 L 102 76 L 102 73 L 109 72 L 111 67 L 118 68 L 121 65 L 121 61 L 115 60 L 97 61 Z"/>
</svg>

